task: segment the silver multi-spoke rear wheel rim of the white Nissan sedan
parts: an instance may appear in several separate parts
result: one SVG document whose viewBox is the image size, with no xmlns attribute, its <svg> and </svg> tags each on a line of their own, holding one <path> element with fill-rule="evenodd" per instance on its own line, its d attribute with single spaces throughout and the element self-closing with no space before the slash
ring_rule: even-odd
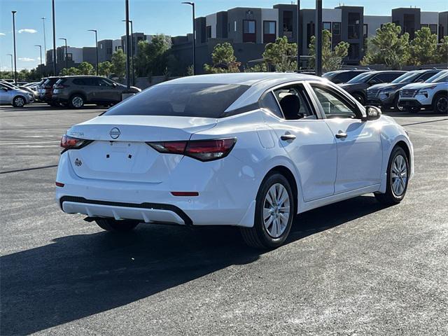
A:
<svg viewBox="0 0 448 336">
<path fill-rule="evenodd" d="M 263 222 L 267 233 L 273 237 L 280 237 L 288 226 L 290 216 L 290 200 L 288 191 L 280 183 L 269 188 L 263 205 Z"/>
</svg>

